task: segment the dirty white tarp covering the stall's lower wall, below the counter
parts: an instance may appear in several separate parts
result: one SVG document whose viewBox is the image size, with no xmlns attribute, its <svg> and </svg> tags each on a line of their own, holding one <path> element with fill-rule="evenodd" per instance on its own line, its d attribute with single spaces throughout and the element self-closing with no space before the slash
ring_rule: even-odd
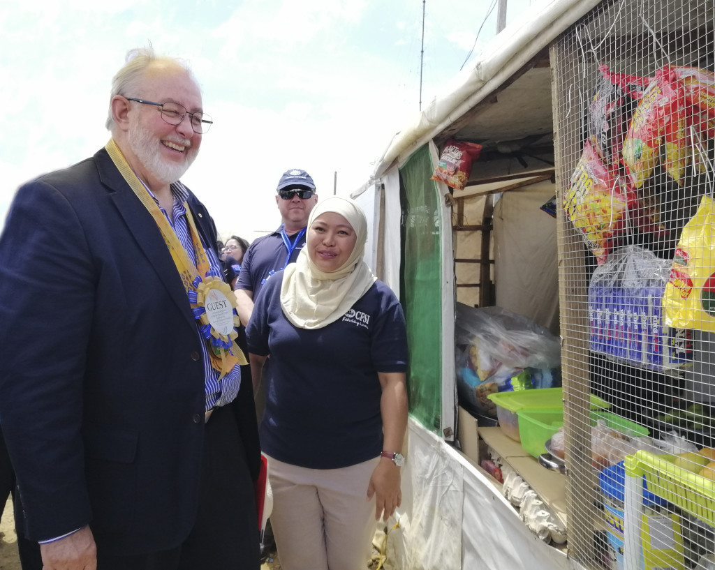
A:
<svg viewBox="0 0 715 570">
<path fill-rule="evenodd" d="M 403 509 L 388 534 L 385 568 L 566 570 L 566 554 L 518 519 L 487 476 L 410 420 Z M 388 527 L 389 528 L 389 527 Z"/>
</svg>

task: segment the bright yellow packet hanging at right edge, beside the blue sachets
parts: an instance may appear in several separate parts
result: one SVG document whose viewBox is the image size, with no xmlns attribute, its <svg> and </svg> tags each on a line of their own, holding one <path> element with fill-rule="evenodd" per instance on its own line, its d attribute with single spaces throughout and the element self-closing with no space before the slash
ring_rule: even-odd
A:
<svg viewBox="0 0 715 570">
<path fill-rule="evenodd" d="M 709 195 L 683 229 L 663 308 L 669 326 L 715 333 L 715 206 Z"/>
</svg>

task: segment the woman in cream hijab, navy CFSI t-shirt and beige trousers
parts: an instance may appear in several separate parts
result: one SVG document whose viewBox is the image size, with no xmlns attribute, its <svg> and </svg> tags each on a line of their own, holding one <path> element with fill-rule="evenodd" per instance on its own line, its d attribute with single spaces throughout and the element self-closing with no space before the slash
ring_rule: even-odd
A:
<svg viewBox="0 0 715 570">
<path fill-rule="evenodd" d="M 260 437 L 285 570 L 365 568 L 375 520 L 400 506 L 405 318 L 363 261 L 367 226 L 354 201 L 319 202 L 246 330 L 254 378 L 270 355 Z"/>
</svg>

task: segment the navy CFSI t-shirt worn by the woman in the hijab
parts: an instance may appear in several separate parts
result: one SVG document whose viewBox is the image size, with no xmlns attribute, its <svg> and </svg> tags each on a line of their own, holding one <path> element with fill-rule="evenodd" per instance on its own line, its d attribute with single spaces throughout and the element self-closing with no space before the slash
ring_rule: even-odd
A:
<svg viewBox="0 0 715 570">
<path fill-rule="evenodd" d="M 270 354 L 261 449 L 285 463 L 337 469 L 383 449 L 380 372 L 405 372 L 405 316 L 393 291 L 376 281 L 350 311 L 322 329 L 299 329 L 280 306 L 283 272 L 257 300 L 248 350 Z"/>
</svg>

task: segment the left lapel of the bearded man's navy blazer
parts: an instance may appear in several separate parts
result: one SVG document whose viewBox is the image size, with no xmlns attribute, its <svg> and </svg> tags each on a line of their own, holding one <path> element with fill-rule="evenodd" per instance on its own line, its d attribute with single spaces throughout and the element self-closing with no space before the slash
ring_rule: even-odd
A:
<svg viewBox="0 0 715 570">
<path fill-rule="evenodd" d="M 196 321 L 189 306 L 184 285 L 152 215 L 149 214 L 144 204 L 139 201 L 122 174 L 114 166 L 107 151 L 104 149 L 98 151 L 94 155 L 94 159 L 97 169 L 99 169 L 99 178 L 102 180 L 102 184 L 109 189 L 109 196 L 134 236 L 137 246 L 149 259 L 178 309 L 182 311 L 189 324 L 195 328 Z"/>
</svg>

